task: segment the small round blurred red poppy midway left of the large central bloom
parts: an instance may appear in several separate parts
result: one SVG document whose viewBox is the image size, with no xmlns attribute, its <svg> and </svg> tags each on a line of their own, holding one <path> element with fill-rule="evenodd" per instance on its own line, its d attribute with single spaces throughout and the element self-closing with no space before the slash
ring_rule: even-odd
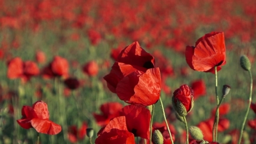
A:
<svg viewBox="0 0 256 144">
<path fill-rule="evenodd" d="M 95 76 L 98 74 L 98 64 L 95 61 L 87 62 L 82 69 L 83 72 L 89 76 Z"/>
</svg>

